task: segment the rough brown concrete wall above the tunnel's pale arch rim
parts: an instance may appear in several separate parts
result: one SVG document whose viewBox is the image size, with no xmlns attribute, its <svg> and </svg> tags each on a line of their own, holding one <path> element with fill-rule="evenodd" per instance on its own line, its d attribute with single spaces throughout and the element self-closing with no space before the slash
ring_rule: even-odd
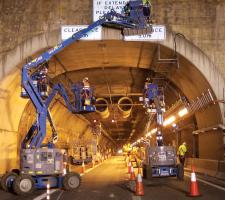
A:
<svg viewBox="0 0 225 200">
<path fill-rule="evenodd" d="M 151 0 L 151 2 L 154 23 L 165 24 L 170 31 L 183 34 L 224 74 L 224 1 Z M 51 39 L 48 33 L 58 31 L 61 25 L 90 24 L 93 16 L 93 0 L 38 2 L 2 0 L 0 11 L 0 56 L 4 57 L 6 53 L 34 36 L 45 33 L 46 39 Z"/>
</svg>

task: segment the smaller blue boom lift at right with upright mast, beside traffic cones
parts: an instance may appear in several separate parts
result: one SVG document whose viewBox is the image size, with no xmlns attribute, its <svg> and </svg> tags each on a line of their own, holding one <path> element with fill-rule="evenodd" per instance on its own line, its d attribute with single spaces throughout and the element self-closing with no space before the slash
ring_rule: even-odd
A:
<svg viewBox="0 0 225 200">
<path fill-rule="evenodd" d="M 143 164 L 144 178 L 171 177 L 179 179 L 183 177 L 182 165 L 177 164 L 176 149 L 173 146 L 163 144 L 162 126 L 163 112 L 165 112 L 163 89 L 147 78 L 144 88 L 144 107 L 149 113 L 156 113 L 156 146 L 146 146 L 146 158 Z"/>
</svg>

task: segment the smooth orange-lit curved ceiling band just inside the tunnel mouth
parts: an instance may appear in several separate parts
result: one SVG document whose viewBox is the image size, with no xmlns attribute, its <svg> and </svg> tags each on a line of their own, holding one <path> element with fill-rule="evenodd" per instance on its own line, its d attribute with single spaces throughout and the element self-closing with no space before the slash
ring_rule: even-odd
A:
<svg viewBox="0 0 225 200">
<path fill-rule="evenodd" d="M 160 76 L 167 77 L 190 99 L 210 88 L 204 75 L 184 57 L 179 56 L 179 65 L 171 61 L 158 62 L 159 57 L 174 59 L 174 51 L 149 42 L 78 41 L 52 59 L 52 76 L 85 68 L 132 67 L 159 72 Z M 98 79 L 104 82 L 102 75 L 98 74 Z"/>
</svg>

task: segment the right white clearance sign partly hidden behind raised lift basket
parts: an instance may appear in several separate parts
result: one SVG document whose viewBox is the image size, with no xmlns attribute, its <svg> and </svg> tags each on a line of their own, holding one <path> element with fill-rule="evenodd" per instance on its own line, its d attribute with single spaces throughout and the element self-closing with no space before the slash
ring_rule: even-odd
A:
<svg viewBox="0 0 225 200">
<path fill-rule="evenodd" d="M 124 36 L 125 41 L 159 41 L 165 39 L 166 27 L 163 25 L 153 25 L 151 34 Z"/>
</svg>

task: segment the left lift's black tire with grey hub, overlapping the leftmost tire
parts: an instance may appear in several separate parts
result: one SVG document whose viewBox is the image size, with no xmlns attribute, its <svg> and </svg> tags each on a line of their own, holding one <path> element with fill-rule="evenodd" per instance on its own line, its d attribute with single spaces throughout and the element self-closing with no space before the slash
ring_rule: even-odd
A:
<svg viewBox="0 0 225 200">
<path fill-rule="evenodd" d="M 34 184 L 34 179 L 30 175 L 23 174 L 13 182 L 13 190 L 17 195 L 29 195 L 34 191 Z"/>
</svg>

